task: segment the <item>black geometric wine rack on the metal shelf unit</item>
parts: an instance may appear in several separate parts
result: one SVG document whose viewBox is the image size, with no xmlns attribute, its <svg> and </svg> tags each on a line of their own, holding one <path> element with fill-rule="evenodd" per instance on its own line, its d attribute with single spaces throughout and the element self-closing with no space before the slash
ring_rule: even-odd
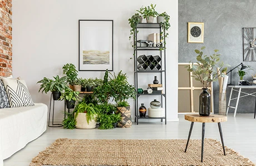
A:
<svg viewBox="0 0 256 166">
<path fill-rule="evenodd" d="M 162 66 L 159 64 L 161 61 L 161 57 L 159 55 L 140 55 L 137 58 L 137 62 L 139 65 L 137 65 L 137 70 L 160 70 Z"/>
</svg>

